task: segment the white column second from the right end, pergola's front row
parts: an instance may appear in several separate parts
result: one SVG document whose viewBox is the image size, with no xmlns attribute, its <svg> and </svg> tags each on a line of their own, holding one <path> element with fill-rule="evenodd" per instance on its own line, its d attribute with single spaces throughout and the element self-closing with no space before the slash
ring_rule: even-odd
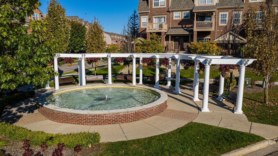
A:
<svg viewBox="0 0 278 156">
<path fill-rule="evenodd" d="M 202 112 L 209 112 L 209 65 L 205 64 L 205 79 L 204 79 L 204 91 L 203 91 L 203 105 L 201 108 Z"/>
</svg>

